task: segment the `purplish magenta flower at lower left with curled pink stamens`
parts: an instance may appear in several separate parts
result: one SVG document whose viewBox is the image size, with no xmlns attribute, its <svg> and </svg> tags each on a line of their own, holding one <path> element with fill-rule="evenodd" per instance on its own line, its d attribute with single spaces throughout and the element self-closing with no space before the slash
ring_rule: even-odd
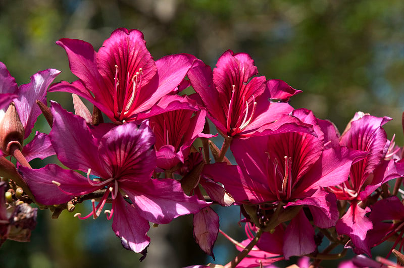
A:
<svg viewBox="0 0 404 268">
<path fill-rule="evenodd" d="M 112 229 L 122 245 L 135 252 L 149 244 L 149 222 L 167 224 L 210 204 L 185 195 L 176 180 L 151 179 L 156 168 L 155 137 L 146 123 L 139 127 L 135 123 L 87 126 L 83 118 L 57 103 L 51 110 L 54 123 L 49 136 L 59 160 L 72 170 L 54 164 L 37 170 L 21 167 L 20 173 L 39 202 L 61 204 L 103 190 L 97 205 L 92 200 L 93 210 L 79 218 L 98 217 L 111 198 L 107 218 L 113 218 Z"/>
</svg>

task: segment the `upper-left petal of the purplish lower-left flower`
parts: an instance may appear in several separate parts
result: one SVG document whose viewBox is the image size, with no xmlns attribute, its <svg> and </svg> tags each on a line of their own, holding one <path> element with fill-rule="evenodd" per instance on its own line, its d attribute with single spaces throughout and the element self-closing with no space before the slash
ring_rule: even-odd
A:
<svg viewBox="0 0 404 268">
<path fill-rule="evenodd" d="M 49 137 L 63 165 L 83 172 L 91 169 L 92 174 L 108 179 L 109 174 L 100 164 L 99 142 L 91 135 L 85 120 L 68 113 L 56 102 L 52 103 L 51 110 L 54 124 Z"/>
</svg>

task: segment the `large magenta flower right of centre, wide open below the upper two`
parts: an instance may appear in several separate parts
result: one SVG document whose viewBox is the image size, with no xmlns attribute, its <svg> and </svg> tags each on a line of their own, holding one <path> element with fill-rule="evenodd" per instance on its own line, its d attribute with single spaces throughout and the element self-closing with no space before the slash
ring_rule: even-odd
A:
<svg viewBox="0 0 404 268">
<path fill-rule="evenodd" d="M 230 149 L 239 166 L 216 163 L 203 171 L 223 183 L 237 202 L 259 205 L 260 213 L 278 206 L 285 216 L 289 214 L 282 249 L 286 259 L 316 249 L 315 230 L 301 207 L 308 207 L 315 226 L 334 226 L 339 216 L 336 197 L 323 187 L 344 182 L 351 164 L 364 156 L 347 147 L 324 149 L 324 135 L 313 113 L 299 109 L 292 115 L 313 125 L 316 136 L 293 132 L 237 139 Z"/>
</svg>

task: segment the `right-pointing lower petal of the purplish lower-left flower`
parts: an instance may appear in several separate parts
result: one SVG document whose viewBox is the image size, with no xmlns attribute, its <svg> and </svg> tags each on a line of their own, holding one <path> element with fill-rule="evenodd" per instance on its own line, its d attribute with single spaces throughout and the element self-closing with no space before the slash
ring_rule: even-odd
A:
<svg viewBox="0 0 404 268">
<path fill-rule="evenodd" d="M 167 224 L 181 215 L 194 214 L 210 203 L 196 196 L 187 196 L 181 184 L 172 179 L 156 179 L 148 182 L 120 182 L 132 202 L 149 222 Z"/>
</svg>

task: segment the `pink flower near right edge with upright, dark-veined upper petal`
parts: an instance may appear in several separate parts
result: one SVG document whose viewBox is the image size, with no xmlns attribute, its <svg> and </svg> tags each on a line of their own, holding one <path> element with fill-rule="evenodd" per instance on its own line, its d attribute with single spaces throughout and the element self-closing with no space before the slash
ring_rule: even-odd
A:
<svg viewBox="0 0 404 268">
<path fill-rule="evenodd" d="M 371 256 L 367 232 L 372 229 L 372 222 L 366 217 L 370 212 L 367 198 L 383 183 L 401 177 L 402 174 L 394 159 L 385 159 L 391 143 L 382 126 L 390 120 L 388 117 L 378 118 L 357 113 L 339 137 L 341 146 L 367 152 L 364 159 L 352 165 L 347 181 L 329 188 L 339 200 L 350 201 L 348 210 L 336 225 L 336 230 L 338 234 L 351 238 L 352 247 L 357 254 L 366 253 Z M 328 131 L 337 133 L 329 135 L 334 140 L 339 136 L 336 128 L 328 128 Z"/>
</svg>

